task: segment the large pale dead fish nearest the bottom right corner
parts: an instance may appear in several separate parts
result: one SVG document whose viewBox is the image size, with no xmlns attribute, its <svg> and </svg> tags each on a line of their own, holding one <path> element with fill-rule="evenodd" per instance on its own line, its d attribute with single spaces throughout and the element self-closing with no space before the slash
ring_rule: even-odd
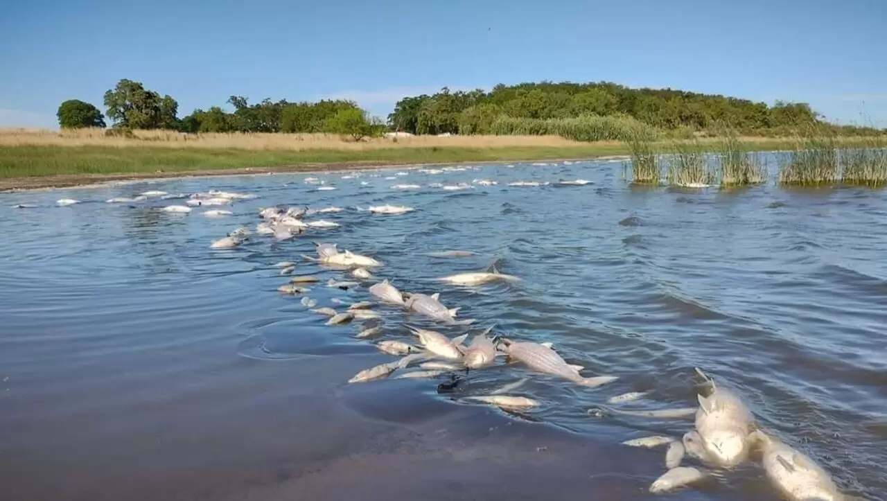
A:
<svg viewBox="0 0 887 501">
<path fill-rule="evenodd" d="M 767 478 L 789 501 L 843 501 L 844 495 L 821 466 L 803 452 L 757 430 L 753 433 L 763 452 Z"/>
</svg>

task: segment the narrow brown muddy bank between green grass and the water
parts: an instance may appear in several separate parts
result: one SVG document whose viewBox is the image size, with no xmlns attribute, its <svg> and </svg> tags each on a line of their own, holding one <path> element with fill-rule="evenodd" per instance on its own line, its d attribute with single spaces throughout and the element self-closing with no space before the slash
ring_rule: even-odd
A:
<svg viewBox="0 0 887 501">
<path fill-rule="evenodd" d="M 319 174 L 323 172 L 347 172 L 352 170 L 374 170 L 384 168 L 421 168 L 433 165 L 468 165 L 495 163 L 527 163 L 527 162 L 558 162 L 587 160 L 627 160 L 628 155 L 600 155 L 583 158 L 528 158 L 521 160 L 458 160 L 443 162 L 365 162 L 344 161 L 331 163 L 300 163 L 280 165 L 276 167 L 243 167 L 243 168 L 208 168 L 202 170 L 170 170 L 156 172 L 122 172 L 118 174 L 58 174 L 52 176 L 24 176 L 0 178 L 0 193 L 32 192 L 39 190 L 57 190 L 61 188 L 92 188 L 108 184 L 130 183 L 143 180 L 186 179 L 189 177 L 225 177 L 225 176 L 272 176 L 275 174 Z"/>
</svg>

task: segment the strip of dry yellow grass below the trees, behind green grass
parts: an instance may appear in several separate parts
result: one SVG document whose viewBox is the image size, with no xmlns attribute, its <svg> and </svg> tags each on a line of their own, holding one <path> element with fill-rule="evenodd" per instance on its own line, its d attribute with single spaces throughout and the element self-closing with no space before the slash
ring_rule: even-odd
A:
<svg viewBox="0 0 887 501">
<path fill-rule="evenodd" d="M 237 150 L 348 150 L 382 148 L 508 148 L 514 146 L 577 146 L 557 136 L 413 136 L 378 137 L 360 142 L 331 134 L 207 133 L 186 135 L 171 130 L 136 130 L 135 137 L 106 137 L 104 129 L 0 129 L 0 146 L 158 146 Z"/>
</svg>

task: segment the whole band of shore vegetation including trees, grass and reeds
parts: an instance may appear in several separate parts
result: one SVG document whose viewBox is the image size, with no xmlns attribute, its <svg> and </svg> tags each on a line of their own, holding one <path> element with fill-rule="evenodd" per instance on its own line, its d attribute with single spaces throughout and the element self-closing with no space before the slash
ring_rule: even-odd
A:
<svg viewBox="0 0 887 501">
<path fill-rule="evenodd" d="M 104 105 L 106 114 L 65 101 L 59 131 L 0 130 L 0 189 L 621 154 L 631 155 L 626 175 L 636 183 L 736 186 L 766 181 L 750 153 L 762 150 L 787 150 L 780 184 L 887 184 L 884 130 L 828 123 L 804 103 L 768 106 L 609 82 L 444 88 L 402 99 L 387 121 L 348 100 L 250 105 L 239 96 L 228 99 L 233 111 L 214 106 L 179 118 L 175 98 L 125 79 Z"/>
</svg>

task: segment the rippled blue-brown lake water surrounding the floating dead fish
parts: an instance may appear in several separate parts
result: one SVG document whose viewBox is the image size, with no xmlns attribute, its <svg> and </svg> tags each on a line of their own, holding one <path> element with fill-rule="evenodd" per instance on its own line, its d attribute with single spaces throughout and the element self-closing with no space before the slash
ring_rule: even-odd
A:
<svg viewBox="0 0 887 501">
<path fill-rule="evenodd" d="M 679 436 L 692 420 L 588 411 L 647 390 L 624 408 L 693 406 L 700 367 L 845 492 L 887 499 L 884 192 L 644 189 L 604 161 L 398 171 L 317 175 L 338 187 L 327 192 L 302 183 L 308 175 L 275 175 L 0 195 L 0 497 L 652 498 L 664 448 L 619 442 Z M 505 185 L 577 177 L 594 184 Z M 481 178 L 498 185 L 426 187 Z M 413 183 L 423 188 L 389 188 Z M 235 215 L 220 219 L 156 208 L 182 200 L 104 201 L 209 189 L 258 198 L 221 207 Z M 82 203 L 55 207 L 62 198 Z M 384 203 L 417 210 L 353 209 Z M 274 204 L 346 210 L 313 217 L 340 228 L 208 248 Z M 459 396 L 528 375 L 520 366 L 472 372 L 444 394 L 445 378 L 346 385 L 393 358 L 354 339 L 359 324 L 323 325 L 276 292 L 287 278 L 272 265 L 313 254 L 312 240 L 376 257 L 376 276 L 402 290 L 441 292 L 478 320 L 472 332 L 496 324 L 552 341 L 586 376 L 620 379 L 588 389 L 534 375 L 518 393 L 543 405 L 518 415 Z M 447 249 L 478 255 L 426 255 Z M 434 281 L 493 263 L 522 281 Z M 307 262 L 295 273 L 350 279 Z M 309 286 L 318 306 L 370 299 L 363 287 Z M 376 309 L 382 339 L 414 341 L 402 312 Z M 778 498 L 754 463 L 672 498 L 750 497 Z"/>
</svg>

